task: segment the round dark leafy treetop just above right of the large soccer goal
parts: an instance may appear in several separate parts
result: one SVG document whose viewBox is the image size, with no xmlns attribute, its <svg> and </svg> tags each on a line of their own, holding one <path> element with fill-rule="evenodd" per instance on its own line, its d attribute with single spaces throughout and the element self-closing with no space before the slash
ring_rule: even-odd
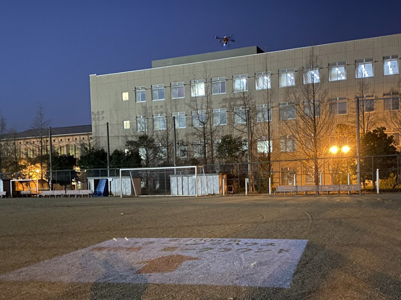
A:
<svg viewBox="0 0 401 300">
<path fill-rule="evenodd" d="M 228 134 L 222 137 L 216 152 L 223 163 L 242 162 L 247 154 L 246 142 L 241 137 L 234 138 Z"/>
</svg>

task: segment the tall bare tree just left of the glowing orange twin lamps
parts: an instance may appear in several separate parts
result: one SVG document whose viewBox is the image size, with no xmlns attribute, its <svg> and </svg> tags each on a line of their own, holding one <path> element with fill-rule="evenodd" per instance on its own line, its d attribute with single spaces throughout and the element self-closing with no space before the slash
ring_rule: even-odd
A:
<svg viewBox="0 0 401 300">
<path fill-rule="evenodd" d="M 325 157 L 329 145 L 329 134 L 333 129 L 333 118 L 329 113 L 326 78 L 319 72 L 318 57 L 312 47 L 295 85 L 288 88 L 288 97 L 294 103 L 296 120 L 285 120 L 286 129 L 293 136 L 297 149 L 294 156 L 310 159 L 313 166 L 305 164 L 305 169 L 313 172 L 315 184 L 319 184 L 319 158 Z"/>
</svg>

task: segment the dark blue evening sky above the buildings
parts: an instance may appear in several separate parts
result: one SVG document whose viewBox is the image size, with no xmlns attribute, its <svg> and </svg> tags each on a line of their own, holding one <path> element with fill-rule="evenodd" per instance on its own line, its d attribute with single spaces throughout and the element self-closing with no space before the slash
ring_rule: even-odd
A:
<svg viewBox="0 0 401 300">
<path fill-rule="evenodd" d="M 265 51 L 401 33 L 398 1 L 0 0 L 0 109 L 30 129 L 39 103 L 51 126 L 90 124 L 89 75 L 222 51 Z"/>
</svg>

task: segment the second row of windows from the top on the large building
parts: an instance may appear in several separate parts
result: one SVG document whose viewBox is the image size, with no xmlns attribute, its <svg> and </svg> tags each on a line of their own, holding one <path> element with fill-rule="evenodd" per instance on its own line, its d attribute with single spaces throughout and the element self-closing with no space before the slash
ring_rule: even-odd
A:
<svg viewBox="0 0 401 300">
<path fill-rule="evenodd" d="M 374 112 L 375 110 L 375 99 L 364 98 L 360 100 L 361 106 L 364 112 Z M 338 97 L 329 100 L 330 115 L 346 115 L 347 114 L 347 98 Z M 256 107 L 257 122 L 270 122 L 272 120 L 272 109 L 265 105 L 257 105 Z M 384 111 L 399 110 L 399 97 L 384 99 Z M 306 116 L 320 116 L 320 102 L 315 101 L 314 105 L 310 102 L 304 103 L 304 113 Z M 185 112 L 172 113 L 175 117 L 175 128 L 186 128 L 186 115 Z M 292 102 L 279 103 L 279 116 L 280 120 L 294 120 L 296 118 L 295 104 Z M 205 110 L 192 111 L 191 119 L 193 127 L 202 127 L 207 123 L 207 115 Z M 247 123 L 247 111 L 245 107 L 234 108 L 234 123 L 235 124 L 246 124 Z M 213 125 L 227 125 L 227 109 L 218 108 L 213 109 Z M 130 129 L 131 124 L 129 120 L 123 121 L 123 128 Z M 164 130 L 166 129 L 166 114 L 154 114 L 153 115 L 153 129 Z M 147 118 L 146 116 L 136 116 L 136 130 L 146 131 L 147 130 Z"/>
</svg>

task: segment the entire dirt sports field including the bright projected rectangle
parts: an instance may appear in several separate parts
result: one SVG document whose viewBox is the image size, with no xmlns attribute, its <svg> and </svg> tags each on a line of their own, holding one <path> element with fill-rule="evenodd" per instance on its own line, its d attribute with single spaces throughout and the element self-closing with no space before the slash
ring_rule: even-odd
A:
<svg viewBox="0 0 401 300">
<path fill-rule="evenodd" d="M 401 299 L 401 195 L 0 200 L 1 299 Z"/>
</svg>

